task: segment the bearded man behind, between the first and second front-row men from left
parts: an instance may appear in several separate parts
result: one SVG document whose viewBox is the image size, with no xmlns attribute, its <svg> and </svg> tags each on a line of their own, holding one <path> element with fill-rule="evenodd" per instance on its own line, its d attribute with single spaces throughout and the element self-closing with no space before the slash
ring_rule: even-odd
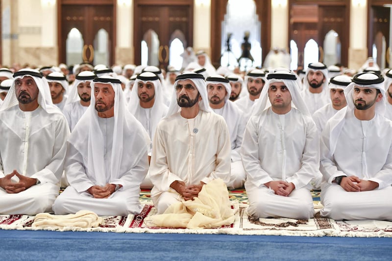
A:
<svg viewBox="0 0 392 261">
<path fill-rule="evenodd" d="M 90 83 L 96 75 L 90 71 L 83 71 L 76 76 L 67 102 L 64 106 L 63 113 L 67 118 L 68 125 L 72 131 L 76 123 L 82 117 L 84 112 L 90 106 L 91 86 Z"/>
</svg>

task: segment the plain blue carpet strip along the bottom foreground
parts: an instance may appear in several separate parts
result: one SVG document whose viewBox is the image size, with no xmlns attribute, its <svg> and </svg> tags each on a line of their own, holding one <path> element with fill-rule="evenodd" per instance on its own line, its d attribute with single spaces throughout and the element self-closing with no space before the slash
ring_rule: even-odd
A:
<svg viewBox="0 0 392 261">
<path fill-rule="evenodd" d="M 392 238 L 0 230 L 1 260 L 391 260 Z"/>
</svg>

